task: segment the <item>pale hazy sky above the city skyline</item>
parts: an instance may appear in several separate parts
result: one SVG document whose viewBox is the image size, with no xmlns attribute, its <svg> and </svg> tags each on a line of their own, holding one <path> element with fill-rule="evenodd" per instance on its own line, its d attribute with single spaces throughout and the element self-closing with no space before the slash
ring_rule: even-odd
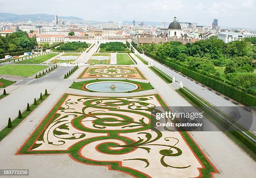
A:
<svg viewBox="0 0 256 178">
<path fill-rule="evenodd" d="M 197 25 L 210 25 L 217 18 L 222 27 L 256 28 L 256 0 L 0 0 L 0 12 L 57 13 L 101 22 L 172 22 L 176 16 Z"/>
</svg>

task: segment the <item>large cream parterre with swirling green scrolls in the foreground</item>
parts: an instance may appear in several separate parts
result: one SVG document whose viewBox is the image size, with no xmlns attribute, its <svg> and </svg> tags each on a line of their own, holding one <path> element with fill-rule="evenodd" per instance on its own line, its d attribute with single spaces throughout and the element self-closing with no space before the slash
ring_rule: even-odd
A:
<svg viewBox="0 0 256 178">
<path fill-rule="evenodd" d="M 151 129 L 160 96 L 64 94 L 17 154 L 67 153 L 134 177 L 212 177 L 218 171 L 187 132 Z"/>
</svg>

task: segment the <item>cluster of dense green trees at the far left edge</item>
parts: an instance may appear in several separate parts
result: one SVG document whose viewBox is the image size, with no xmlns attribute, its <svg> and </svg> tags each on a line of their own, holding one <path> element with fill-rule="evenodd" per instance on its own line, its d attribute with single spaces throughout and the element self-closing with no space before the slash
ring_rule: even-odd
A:
<svg viewBox="0 0 256 178">
<path fill-rule="evenodd" d="M 29 38 L 26 32 L 20 30 L 6 37 L 0 36 L 0 53 L 29 50 L 36 46 L 36 38 Z"/>
</svg>

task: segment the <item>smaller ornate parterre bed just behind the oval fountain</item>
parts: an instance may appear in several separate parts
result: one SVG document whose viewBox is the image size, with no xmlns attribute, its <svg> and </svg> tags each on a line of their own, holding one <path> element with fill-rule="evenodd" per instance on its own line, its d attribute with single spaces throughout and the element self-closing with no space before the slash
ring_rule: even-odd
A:
<svg viewBox="0 0 256 178">
<path fill-rule="evenodd" d="M 137 78 L 145 79 L 136 67 L 128 66 L 96 66 L 86 68 L 79 78 Z"/>
</svg>

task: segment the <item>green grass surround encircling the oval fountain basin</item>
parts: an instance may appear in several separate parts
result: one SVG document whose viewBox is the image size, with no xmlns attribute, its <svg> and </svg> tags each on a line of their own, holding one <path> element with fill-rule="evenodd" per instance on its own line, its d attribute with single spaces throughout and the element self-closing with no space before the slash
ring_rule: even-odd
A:
<svg viewBox="0 0 256 178">
<path fill-rule="evenodd" d="M 133 81 L 133 80 L 88 80 L 88 81 L 83 81 L 83 82 L 72 83 L 70 88 L 77 89 L 77 90 L 84 90 L 84 89 L 82 89 L 84 84 L 94 83 L 94 82 L 102 82 L 102 81 L 121 81 L 121 82 L 128 82 L 128 83 L 138 84 L 138 85 L 141 86 L 140 90 L 130 91 L 131 93 L 132 92 L 137 92 L 137 91 L 144 91 L 144 90 L 154 89 L 153 86 L 150 83 L 137 82 L 137 81 Z M 125 92 L 125 93 L 127 93 L 127 92 Z"/>
</svg>

